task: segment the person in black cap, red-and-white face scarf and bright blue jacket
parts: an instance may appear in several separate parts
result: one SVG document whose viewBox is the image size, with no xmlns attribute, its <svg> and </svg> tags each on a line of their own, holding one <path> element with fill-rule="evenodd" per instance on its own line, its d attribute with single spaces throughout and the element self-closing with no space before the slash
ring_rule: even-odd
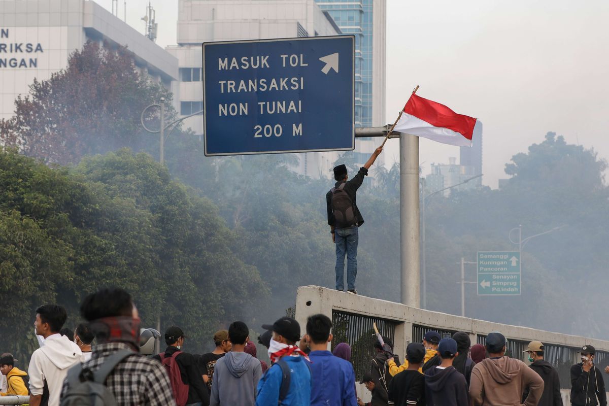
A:
<svg viewBox="0 0 609 406">
<path fill-rule="evenodd" d="M 258 382 L 256 406 L 311 406 L 311 366 L 308 355 L 296 345 L 298 321 L 282 317 L 262 328 L 273 331 L 269 343 L 273 365 Z"/>
</svg>

